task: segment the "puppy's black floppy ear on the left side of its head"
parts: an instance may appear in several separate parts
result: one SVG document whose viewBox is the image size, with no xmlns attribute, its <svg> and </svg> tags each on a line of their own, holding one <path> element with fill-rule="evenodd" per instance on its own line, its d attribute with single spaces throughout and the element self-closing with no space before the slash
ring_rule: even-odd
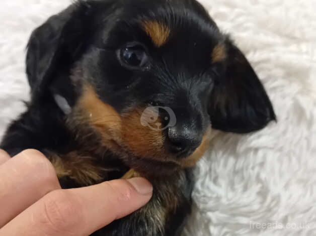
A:
<svg viewBox="0 0 316 236">
<path fill-rule="evenodd" d="M 77 2 L 49 18 L 32 33 L 26 67 L 33 99 L 48 92 L 52 78 L 67 77 L 63 73 L 80 56 L 89 36 L 88 15 L 89 5 Z M 67 87 L 66 83 L 70 82 L 62 83 Z"/>
</svg>

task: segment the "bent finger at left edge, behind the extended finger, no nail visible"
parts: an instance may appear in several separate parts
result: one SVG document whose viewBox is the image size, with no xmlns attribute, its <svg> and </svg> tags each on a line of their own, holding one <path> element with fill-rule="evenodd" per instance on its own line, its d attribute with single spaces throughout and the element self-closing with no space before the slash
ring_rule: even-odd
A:
<svg viewBox="0 0 316 236">
<path fill-rule="evenodd" d="M 26 150 L 2 164 L 0 178 L 0 227 L 46 193 L 60 189 L 53 166 L 35 150 Z"/>
</svg>

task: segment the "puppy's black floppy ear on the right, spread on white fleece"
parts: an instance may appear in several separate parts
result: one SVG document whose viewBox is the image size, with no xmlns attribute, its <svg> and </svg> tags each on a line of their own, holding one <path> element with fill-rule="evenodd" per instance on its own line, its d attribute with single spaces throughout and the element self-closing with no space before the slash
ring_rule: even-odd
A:
<svg viewBox="0 0 316 236">
<path fill-rule="evenodd" d="M 276 120 L 271 101 L 244 54 L 229 40 L 209 114 L 214 129 L 249 133 Z"/>
</svg>

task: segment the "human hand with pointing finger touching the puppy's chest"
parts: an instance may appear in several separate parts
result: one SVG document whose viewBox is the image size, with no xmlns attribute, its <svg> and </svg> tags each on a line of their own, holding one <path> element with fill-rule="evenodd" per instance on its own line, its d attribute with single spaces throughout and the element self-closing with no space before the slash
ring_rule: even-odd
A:
<svg viewBox="0 0 316 236">
<path fill-rule="evenodd" d="M 0 235 L 89 235 L 145 205 L 143 178 L 61 189 L 48 159 L 36 150 L 10 156 L 0 150 Z"/>
</svg>

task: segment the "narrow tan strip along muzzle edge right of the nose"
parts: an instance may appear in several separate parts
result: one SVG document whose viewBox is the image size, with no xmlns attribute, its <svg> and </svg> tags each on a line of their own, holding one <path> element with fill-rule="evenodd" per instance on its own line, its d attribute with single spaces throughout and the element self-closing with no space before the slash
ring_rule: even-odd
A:
<svg viewBox="0 0 316 236">
<path fill-rule="evenodd" d="M 201 145 L 195 150 L 195 152 L 190 157 L 183 160 L 183 167 L 192 167 L 202 158 L 209 147 L 209 142 L 211 140 L 210 134 L 211 128 L 207 130 L 206 134 L 203 136 Z"/>
</svg>

